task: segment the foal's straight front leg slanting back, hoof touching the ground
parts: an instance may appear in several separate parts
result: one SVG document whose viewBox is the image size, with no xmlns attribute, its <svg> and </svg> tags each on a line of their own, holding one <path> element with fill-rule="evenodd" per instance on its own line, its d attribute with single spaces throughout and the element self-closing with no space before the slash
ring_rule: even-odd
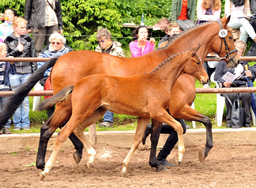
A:
<svg viewBox="0 0 256 188">
<path fill-rule="evenodd" d="M 132 141 L 133 142 L 132 147 L 131 147 L 128 155 L 126 156 L 126 158 L 123 161 L 122 171 L 120 172 L 121 177 L 124 177 L 126 174 L 126 170 L 127 170 L 128 165 L 130 164 L 132 155 L 134 154 L 134 151 L 138 148 L 140 142 L 142 141 L 142 137 L 144 135 L 144 132 L 148 125 L 149 120 L 150 120 L 150 118 L 144 118 L 144 117 L 139 117 L 139 119 L 138 119 L 138 125 L 137 125 L 134 139 Z"/>
</svg>

